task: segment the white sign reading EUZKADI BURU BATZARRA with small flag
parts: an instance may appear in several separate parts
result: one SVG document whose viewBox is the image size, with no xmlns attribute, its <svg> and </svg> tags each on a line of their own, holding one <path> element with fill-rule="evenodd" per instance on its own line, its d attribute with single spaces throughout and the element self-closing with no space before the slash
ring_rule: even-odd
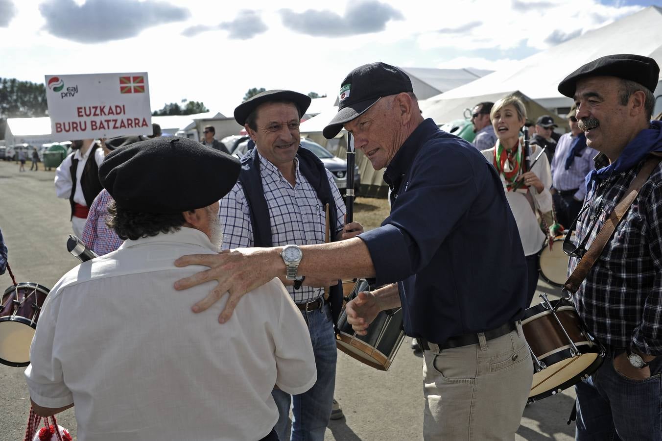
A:
<svg viewBox="0 0 662 441">
<path fill-rule="evenodd" d="M 152 134 L 147 73 L 46 75 L 56 141 Z"/>
</svg>

